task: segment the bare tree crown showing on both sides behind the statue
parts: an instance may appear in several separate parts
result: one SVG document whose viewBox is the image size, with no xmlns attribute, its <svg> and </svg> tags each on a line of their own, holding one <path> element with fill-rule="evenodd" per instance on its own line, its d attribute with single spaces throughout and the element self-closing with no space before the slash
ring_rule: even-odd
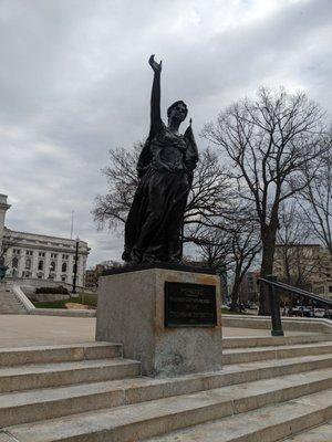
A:
<svg viewBox="0 0 332 442">
<path fill-rule="evenodd" d="M 96 198 L 92 212 L 100 229 L 107 227 L 114 230 L 125 223 L 138 185 L 136 165 L 141 149 L 142 144 L 137 144 L 129 151 L 123 148 L 110 150 L 111 165 L 102 170 L 107 178 L 107 193 Z M 217 155 L 210 149 L 203 150 L 195 170 L 184 223 L 211 225 L 212 219 L 227 212 L 226 208 L 231 200 L 229 193 L 228 178 Z M 185 236 L 185 242 L 190 241 L 190 238 Z"/>
</svg>

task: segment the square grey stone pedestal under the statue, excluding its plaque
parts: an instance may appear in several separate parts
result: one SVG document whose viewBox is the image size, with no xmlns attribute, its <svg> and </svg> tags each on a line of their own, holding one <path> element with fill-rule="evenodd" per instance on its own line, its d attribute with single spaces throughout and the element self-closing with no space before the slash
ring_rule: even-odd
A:
<svg viewBox="0 0 332 442">
<path fill-rule="evenodd" d="M 219 276 L 165 267 L 120 272 L 100 278 L 96 340 L 122 343 L 124 357 L 139 360 L 148 376 L 221 369 Z M 197 284 L 215 287 L 216 325 L 166 326 L 165 282 L 187 283 L 198 297 Z"/>
</svg>

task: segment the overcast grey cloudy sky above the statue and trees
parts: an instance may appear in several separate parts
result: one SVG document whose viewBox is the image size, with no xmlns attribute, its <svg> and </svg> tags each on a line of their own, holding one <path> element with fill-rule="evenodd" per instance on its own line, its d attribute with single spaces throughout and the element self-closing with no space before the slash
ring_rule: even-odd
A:
<svg viewBox="0 0 332 442">
<path fill-rule="evenodd" d="M 164 115 L 184 99 L 198 134 L 259 85 L 304 90 L 332 115 L 331 52 L 332 0 L 0 0 L 7 227 L 69 236 L 74 211 L 89 264 L 120 259 L 91 210 L 107 150 L 148 133 L 149 54 Z"/>
</svg>

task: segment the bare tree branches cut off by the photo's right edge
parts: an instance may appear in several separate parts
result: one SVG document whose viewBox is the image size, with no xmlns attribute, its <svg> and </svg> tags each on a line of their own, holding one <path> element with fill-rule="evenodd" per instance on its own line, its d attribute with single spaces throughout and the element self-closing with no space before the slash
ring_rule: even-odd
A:
<svg viewBox="0 0 332 442">
<path fill-rule="evenodd" d="M 324 139 L 326 152 L 312 173 L 303 169 L 308 186 L 298 196 L 307 224 L 315 238 L 329 250 L 332 259 L 332 133 Z"/>
</svg>

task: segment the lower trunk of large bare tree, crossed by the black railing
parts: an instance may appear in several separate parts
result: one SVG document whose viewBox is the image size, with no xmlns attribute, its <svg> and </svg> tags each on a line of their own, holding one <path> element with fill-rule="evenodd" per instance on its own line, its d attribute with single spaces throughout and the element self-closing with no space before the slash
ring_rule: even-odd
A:
<svg viewBox="0 0 332 442">
<path fill-rule="evenodd" d="M 277 234 L 277 228 L 266 227 L 261 231 L 261 239 L 262 239 L 262 259 L 261 259 L 261 267 L 260 267 L 261 277 L 271 275 L 273 272 L 276 234 Z M 270 315 L 271 314 L 270 302 L 269 302 L 269 297 L 268 297 L 268 287 L 266 284 L 260 284 L 260 287 L 259 287 L 258 314 L 259 315 Z"/>
</svg>

